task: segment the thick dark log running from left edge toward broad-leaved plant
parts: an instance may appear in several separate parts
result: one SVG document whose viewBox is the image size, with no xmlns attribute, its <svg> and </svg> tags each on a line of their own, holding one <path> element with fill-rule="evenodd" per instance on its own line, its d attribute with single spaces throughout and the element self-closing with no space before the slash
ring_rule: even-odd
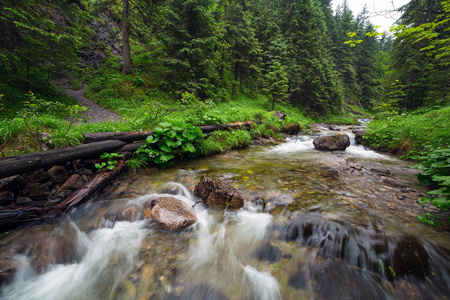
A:
<svg viewBox="0 0 450 300">
<path fill-rule="evenodd" d="M 0 178 L 31 172 L 76 159 L 99 156 L 125 146 L 124 141 L 101 141 L 87 145 L 17 155 L 0 161 Z"/>
</svg>

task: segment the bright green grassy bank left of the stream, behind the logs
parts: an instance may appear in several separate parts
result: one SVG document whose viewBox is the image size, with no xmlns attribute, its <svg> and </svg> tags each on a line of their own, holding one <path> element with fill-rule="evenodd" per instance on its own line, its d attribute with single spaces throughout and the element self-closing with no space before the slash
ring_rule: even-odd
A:
<svg viewBox="0 0 450 300">
<path fill-rule="evenodd" d="M 313 122 L 299 109 L 288 105 L 276 106 L 276 110 L 287 114 L 284 120 L 279 120 L 274 116 L 275 111 L 267 110 L 268 99 L 264 95 L 254 97 L 241 95 L 236 99 L 215 103 L 200 101 L 194 95 L 185 93 L 182 99 L 174 101 L 170 99 L 169 94 L 160 94 L 148 86 L 122 88 L 132 84 L 130 80 L 134 77 L 131 75 L 117 78 L 120 82 L 118 86 L 121 88 L 117 88 L 114 94 L 106 96 L 104 90 L 95 92 L 94 89 L 88 89 L 88 95 L 94 100 L 122 116 L 123 120 L 117 123 L 88 123 L 78 119 L 71 124 L 67 114 L 62 116 L 52 107 L 56 102 L 62 103 L 64 107 L 73 107 L 73 99 L 58 94 L 56 90 L 47 95 L 42 93 L 34 93 L 33 96 L 30 93 L 21 95 L 23 89 L 16 90 L 5 85 L 2 88 L 5 91 L 2 103 L 5 105 L 0 116 L 1 155 L 12 156 L 39 151 L 38 140 L 49 149 L 61 148 L 82 143 L 85 132 L 150 130 L 161 122 L 201 126 L 263 120 L 262 125 L 252 128 L 248 133 L 249 136 L 251 134 L 253 138 L 262 136 L 275 139 L 281 137 L 280 132 L 289 133 L 292 128 L 305 128 Z M 113 81 L 107 84 L 106 90 L 113 90 L 110 85 L 114 86 L 116 83 Z M 20 101 L 14 101 L 17 99 Z M 29 103 L 26 104 L 27 102 Z M 39 132 L 48 133 L 49 136 L 42 137 Z M 210 139 L 209 144 L 202 147 L 202 152 L 209 155 L 241 147 L 240 139 L 248 140 L 247 136 L 243 138 L 243 134 L 222 137 L 216 142 Z M 236 146 L 232 146 L 233 144 Z"/>
</svg>

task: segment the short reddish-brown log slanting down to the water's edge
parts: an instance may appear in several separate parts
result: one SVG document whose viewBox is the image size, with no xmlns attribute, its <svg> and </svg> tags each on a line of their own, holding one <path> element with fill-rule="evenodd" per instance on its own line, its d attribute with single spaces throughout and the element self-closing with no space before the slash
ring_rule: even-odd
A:
<svg viewBox="0 0 450 300">
<path fill-rule="evenodd" d="M 119 174 L 126 167 L 124 161 L 119 161 L 116 167 L 111 171 L 103 171 L 87 182 L 83 187 L 76 190 L 69 198 L 58 205 L 58 211 L 67 212 L 74 205 L 87 200 L 92 195 L 105 186 L 111 179 Z"/>
</svg>

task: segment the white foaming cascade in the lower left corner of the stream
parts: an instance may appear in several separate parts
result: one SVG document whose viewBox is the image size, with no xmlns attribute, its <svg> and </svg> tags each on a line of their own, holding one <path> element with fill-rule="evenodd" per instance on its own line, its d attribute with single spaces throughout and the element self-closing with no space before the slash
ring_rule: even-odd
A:
<svg viewBox="0 0 450 300">
<path fill-rule="evenodd" d="M 117 222 L 90 235 L 79 232 L 78 239 L 86 253 L 73 264 L 48 266 L 34 274 L 30 262 L 18 257 L 21 271 L 6 286 L 1 299 L 59 300 L 111 299 L 115 288 L 136 264 L 139 245 L 149 233 L 144 222 Z"/>
</svg>

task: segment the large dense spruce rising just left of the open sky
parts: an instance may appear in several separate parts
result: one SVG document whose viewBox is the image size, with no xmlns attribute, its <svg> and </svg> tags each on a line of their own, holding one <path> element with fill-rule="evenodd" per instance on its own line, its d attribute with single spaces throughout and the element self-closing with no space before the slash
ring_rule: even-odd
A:
<svg viewBox="0 0 450 300">
<path fill-rule="evenodd" d="M 342 96 L 337 89 L 333 63 L 324 47 L 326 25 L 316 0 L 284 1 L 282 30 L 288 44 L 286 68 L 293 105 L 317 114 L 339 112 Z"/>
</svg>

